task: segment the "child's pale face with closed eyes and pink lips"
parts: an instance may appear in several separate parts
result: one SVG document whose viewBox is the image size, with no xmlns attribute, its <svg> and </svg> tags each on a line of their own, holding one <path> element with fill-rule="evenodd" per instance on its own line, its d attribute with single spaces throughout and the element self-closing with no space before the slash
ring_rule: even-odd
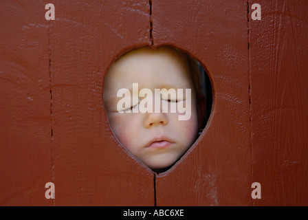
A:
<svg viewBox="0 0 308 220">
<path fill-rule="evenodd" d="M 191 116 L 179 120 L 179 113 L 120 113 L 119 89 L 191 89 Z M 132 90 L 131 90 L 132 91 Z M 131 92 L 131 94 L 133 94 Z M 140 100 L 140 98 L 139 98 Z M 183 101 L 185 104 L 185 100 Z M 169 103 L 170 104 L 170 103 Z M 154 108 L 153 104 L 153 108 Z M 115 137 L 135 157 L 152 169 L 166 168 L 179 159 L 195 141 L 197 109 L 195 89 L 186 58 L 168 47 L 144 47 L 115 61 L 104 80 L 104 107 Z"/>
</svg>

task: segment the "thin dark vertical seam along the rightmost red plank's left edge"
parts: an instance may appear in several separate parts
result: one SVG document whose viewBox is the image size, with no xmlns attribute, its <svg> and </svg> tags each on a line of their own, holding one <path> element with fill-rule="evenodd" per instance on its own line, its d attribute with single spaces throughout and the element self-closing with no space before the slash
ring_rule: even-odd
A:
<svg viewBox="0 0 308 220">
<path fill-rule="evenodd" d="M 247 1 L 247 36 L 248 36 L 248 95 L 249 95 L 249 111 L 250 111 L 250 153 L 251 153 L 251 164 L 250 164 L 250 173 L 251 173 L 251 184 L 253 183 L 253 173 L 254 170 L 252 168 L 253 163 L 253 149 L 252 149 L 252 102 L 251 102 L 251 84 L 252 84 L 252 78 L 251 78 L 251 72 L 250 72 L 250 0 Z M 252 206 L 254 206 L 254 200 L 251 199 Z"/>
</svg>

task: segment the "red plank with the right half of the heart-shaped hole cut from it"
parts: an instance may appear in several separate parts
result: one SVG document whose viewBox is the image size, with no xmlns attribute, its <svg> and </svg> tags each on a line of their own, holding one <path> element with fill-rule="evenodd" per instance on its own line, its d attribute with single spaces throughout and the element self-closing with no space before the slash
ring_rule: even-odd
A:
<svg viewBox="0 0 308 220">
<path fill-rule="evenodd" d="M 153 1 L 153 43 L 173 45 L 209 70 L 205 131 L 156 177 L 157 206 L 251 205 L 247 2 Z"/>
</svg>

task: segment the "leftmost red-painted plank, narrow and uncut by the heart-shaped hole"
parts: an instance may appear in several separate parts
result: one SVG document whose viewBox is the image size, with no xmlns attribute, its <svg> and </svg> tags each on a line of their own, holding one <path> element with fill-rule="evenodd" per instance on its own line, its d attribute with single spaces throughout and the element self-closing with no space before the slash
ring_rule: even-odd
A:
<svg viewBox="0 0 308 220">
<path fill-rule="evenodd" d="M 52 181 L 45 5 L 1 1 L 0 8 L 0 205 L 51 206 L 45 198 Z"/>
</svg>

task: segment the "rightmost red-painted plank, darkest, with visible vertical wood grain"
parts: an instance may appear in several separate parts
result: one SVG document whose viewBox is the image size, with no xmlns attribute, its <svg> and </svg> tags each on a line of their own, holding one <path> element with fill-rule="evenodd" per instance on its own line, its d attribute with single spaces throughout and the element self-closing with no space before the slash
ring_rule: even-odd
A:
<svg viewBox="0 0 308 220">
<path fill-rule="evenodd" d="M 308 3 L 258 3 L 261 21 L 249 22 L 254 206 L 307 206 Z"/>
</svg>

